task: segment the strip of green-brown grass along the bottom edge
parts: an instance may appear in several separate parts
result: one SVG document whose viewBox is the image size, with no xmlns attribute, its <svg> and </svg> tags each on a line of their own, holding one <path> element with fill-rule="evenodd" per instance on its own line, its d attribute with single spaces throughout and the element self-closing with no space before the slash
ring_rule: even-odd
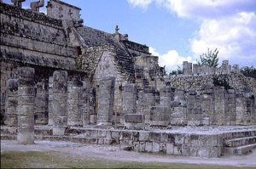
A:
<svg viewBox="0 0 256 169">
<path fill-rule="evenodd" d="M 61 155 L 55 151 L 20 152 L 5 151 L 1 154 L 1 168 L 240 168 L 234 166 L 208 166 L 177 163 L 124 162 Z M 241 167 L 245 168 L 245 167 Z M 250 167 L 247 167 L 250 168 Z M 253 168 L 253 167 L 252 167 Z"/>
</svg>

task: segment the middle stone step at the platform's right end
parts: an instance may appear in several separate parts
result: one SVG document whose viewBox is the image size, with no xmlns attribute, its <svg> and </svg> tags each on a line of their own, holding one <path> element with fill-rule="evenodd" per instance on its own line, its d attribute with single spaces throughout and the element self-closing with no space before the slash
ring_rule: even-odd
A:
<svg viewBox="0 0 256 169">
<path fill-rule="evenodd" d="M 239 147 L 247 144 L 256 144 L 256 136 L 246 138 L 233 138 L 224 141 L 225 147 Z"/>
</svg>

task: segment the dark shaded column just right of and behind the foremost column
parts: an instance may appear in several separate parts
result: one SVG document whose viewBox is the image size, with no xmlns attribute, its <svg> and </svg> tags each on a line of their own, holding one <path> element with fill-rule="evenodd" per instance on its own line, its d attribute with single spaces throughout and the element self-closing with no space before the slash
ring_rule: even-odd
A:
<svg viewBox="0 0 256 169">
<path fill-rule="evenodd" d="M 45 125 L 48 124 L 48 82 L 44 79 L 37 83 L 35 123 Z"/>
</svg>

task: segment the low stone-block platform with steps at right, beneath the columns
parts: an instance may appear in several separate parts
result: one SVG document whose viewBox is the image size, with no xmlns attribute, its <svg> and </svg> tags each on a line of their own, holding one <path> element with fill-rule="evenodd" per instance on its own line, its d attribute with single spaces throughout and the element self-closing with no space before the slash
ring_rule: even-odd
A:
<svg viewBox="0 0 256 169">
<path fill-rule="evenodd" d="M 167 155 L 221 157 L 245 155 L 256 148 L 256 126 L 172 127 L 148 131 L 69 127 L 64 136 L 54 136 L 51 127 L 35 127 L 38 140 L 111 144 L 122 149 Z M 16 132 L 1 127 L 1 139 L 15 139 Z"/>
</svg>

